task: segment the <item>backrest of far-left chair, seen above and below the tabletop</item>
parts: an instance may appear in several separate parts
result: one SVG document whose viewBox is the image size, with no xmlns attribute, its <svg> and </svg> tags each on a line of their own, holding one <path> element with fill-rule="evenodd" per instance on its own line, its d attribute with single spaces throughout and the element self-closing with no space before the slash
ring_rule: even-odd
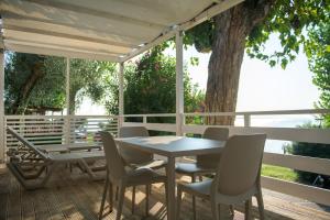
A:
<svg viewBox="0 0 330 220">
<path fill-rule="evenodd" d="M 148 136 L 148 132 L 144 127 L 122 127 L 119 130 L 120 138 Z M 123 160 L 129 164 L 144 164 L 154 158 L 153 154 L 134 150 L 127 144 L 121 143 L 119 152 Z"/>
</svg>

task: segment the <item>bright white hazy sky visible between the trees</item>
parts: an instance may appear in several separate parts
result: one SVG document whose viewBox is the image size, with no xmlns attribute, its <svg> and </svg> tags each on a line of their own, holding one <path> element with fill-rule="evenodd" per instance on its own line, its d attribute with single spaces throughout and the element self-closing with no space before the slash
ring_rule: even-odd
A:
<svg viewBox="0 0 330 220">
<path fill-rule="evenodd" d="M 280 48 L 276 34 L 271 35 L 265 48 L 270 52 Z M 165 53 L 175 56 L 173 48 L 166 50 Z M 191 56 L 199 58 L 197 66 L 190 65 Z M 210 54 L 198 53 L 193 46 L 184 51 L 184 61 L 188 66 L 191 81 L 198 84 L 204 90 L 207 87 L 209 57 Z M 298 54 L 296 61 L 289 63 L 286 69 L 279 65 L 271 67 L 263 61 L 244 56 L 237 111 L 314 109 L 318 98 L 319 91 L 312 84 L 312 73 L 308 69 L 304 53 Z M 101 114 L 102 111 L 101 107 L 96 107 L 90 100 L 86 100 L 77 113 Z"/>
</svg>

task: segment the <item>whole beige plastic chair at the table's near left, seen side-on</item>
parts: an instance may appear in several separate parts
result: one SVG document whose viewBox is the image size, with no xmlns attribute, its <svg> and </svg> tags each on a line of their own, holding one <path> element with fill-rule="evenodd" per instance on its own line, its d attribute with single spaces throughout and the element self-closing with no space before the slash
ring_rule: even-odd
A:
<svg viewBox="0 0 330 220">
<path fill-rule="evenodd" d="M 152 184 L 155 184 L 155 183 L 164 183 L 165 184 L 165 195 L 167 195 L 166 176 L 162 176 L 162 175 L 155 173 L 153 169 L 145 168 L 145 167 L 127 170 L 125 166 L 124 166 L 124 162 L 119 154 L 119 151 L 117 148 L 117 145 L 113 141 L 112 135 L 109 132 L 100 132 L 100 134 L 101 134 L 101 139 L 103 142 L 103 148 L 105 148 L 105 153 L 106 153 L 108 175 L 107 175 L 107 180 L 106 180 L 106 185 L 105 185 L 99 219 L 102 219 L 108 187 L 110 187 L 109 204 L 110 204 L 110 211 L 112 211 L 112 202 L 113 202 L 112 186 L 113 185 L 118 186 L 120 188 L 119 202 L 118 202 L 117 217 L 116 217 L 117 220 L 120 220 L 120 218 L 121 218 L 125 188 L 132 187 L 132 186 L 133 187 L 140 186 L 140 185 L 146 186 L 145 211 L 147 215 L 148 213 L 150 187 Z"/>
</svg>

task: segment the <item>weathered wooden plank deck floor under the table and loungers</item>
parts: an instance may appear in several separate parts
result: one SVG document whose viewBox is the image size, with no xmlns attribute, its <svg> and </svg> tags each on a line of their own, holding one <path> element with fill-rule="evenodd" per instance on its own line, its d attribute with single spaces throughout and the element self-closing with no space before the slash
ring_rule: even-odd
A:
<svg viewBox="0 0 330 220">
<path fill-rule="evenodd" d="M 180 180 L 186 180 L 182 177 Z M 96 220 L 100 207 L 103 182 L 91 182 L 87 175 L 74 170 L 58 170 L 47 187 L 34 191 L 22 189 L 7 168 L 0 168 L 0 220 L 21 219 L 92 219 Z M 163 206 L 164 187 L 154 185 L 150 202 L 150 217 L 144 217 L 144 188 L 136 191 L 136 209 L 132 216 L 130 211 L 131 191 L 127 191 L 123 219 L 166 219 L 166 208 Z M 191 198 L 185 196 L 182 218 L 191 218 Z M 329 220 L 330 212 L 312 202 L 283 194 L 264 190 L 266 219 L 320 219 Z M 211 219 L 208 201 L 197 200 L 197 218 Z M 255 205 L 255 201 L 253 201 Z M 253 216 L 257 218 L 256 208 Z M 238 210 L 242 210 L 238 207 Z M 234 219 L 243 219 L 237 211 Z M 114 219 L 114 212 L 103 219 Z"/>
</svg>

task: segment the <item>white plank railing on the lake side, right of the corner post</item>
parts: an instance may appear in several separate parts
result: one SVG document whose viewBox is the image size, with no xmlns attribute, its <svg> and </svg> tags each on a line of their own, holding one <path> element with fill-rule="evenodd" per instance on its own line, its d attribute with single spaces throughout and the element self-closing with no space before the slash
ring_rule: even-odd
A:
<svg viewBox="0 0 330 220">
<path fill-rule="evenodd" d="M 185 121 L 191 117 L 211 117 L 211 116 L 235 116 L 240 118 L 243 123 L 241 125 L 228 127 L 230 135 L 233 134 L 249 134 L 249 133 L 266 133 L 267 140 L 307 142 L 307 143 L 323 143 L 330 144 L 330 129 L 321 128 L 273 128 L 273 127 L 257 127 L 254 125 L 254 120 L 260 117 L 279 117 L 279 116 L 294 116 L 294 114 L 330 114 L 330 110 L 289 110 L 289 111 L 255 111 L 255 112 L 221 112 L 221 113 L 184 113 Z M 150 123 L 150 118 L 175 118 L 176 114 L 130 114 L 128 118 L 142 118 L 141 123 L 124 122 L 123 125 L 143 125 L 148 130 L 176 132 L 176 124 L 174 123 Z M 205 124 L 184 124 L 184 133 L 201 134 L 208 125 Z M 330 147 L 330 146 L 329 146 Z M 284 155 L 277 153 L 264 153 L 264 164 L 288 167 L 292 169 L 311 172 L 330 176 L 330 160 L 316 158 L 298 155 Z M 288 194 L 311 200 L 315 202 L 330 206 L 330 190 L 308 186 L 304 184 L 282 180 L 272 177 L 262 177 L 262 185 L 265 188 L 276 190 L 279 193 Z"/>
</svg>

